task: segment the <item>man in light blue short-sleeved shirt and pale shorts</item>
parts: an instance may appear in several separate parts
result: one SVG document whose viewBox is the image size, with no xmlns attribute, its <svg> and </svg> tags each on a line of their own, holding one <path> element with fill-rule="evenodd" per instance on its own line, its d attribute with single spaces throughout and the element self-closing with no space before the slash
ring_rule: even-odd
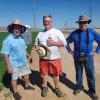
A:
<svg viewBox="0 0 100 100">
<path fill-rule="evenodd" d="M 26 44 L 21 36 L 26 27 L 20 24 L 16 19 L 12 24 L 8 25 L 8 32 L 11 34 L 7 36 L 2 45 L 1 53 L 4 55 L 7 64 L 7 71 L 12 75 L 11 86 L 16 100 L 20 100 L 21 96 L 17 90 L 17 79 L 23 76 L 25 82 L 25 89 L 34 89 L 30 86 L 29 69 L 26 57 Z"/>
</svg>

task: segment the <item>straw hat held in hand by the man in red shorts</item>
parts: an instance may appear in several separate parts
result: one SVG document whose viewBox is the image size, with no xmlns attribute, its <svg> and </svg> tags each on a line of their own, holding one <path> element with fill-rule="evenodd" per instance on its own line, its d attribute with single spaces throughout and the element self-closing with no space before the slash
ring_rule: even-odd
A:
<svg viewBox="0 0 100 100">
<path fill-rule="evenodd" d="M 49 59 L 50 55 L 51 55 L 51 51 L 43 44 L 39 45 L 39 49 L 38 49 L 38 54 L 40 58 L 46 58 Z"/>
</svg>

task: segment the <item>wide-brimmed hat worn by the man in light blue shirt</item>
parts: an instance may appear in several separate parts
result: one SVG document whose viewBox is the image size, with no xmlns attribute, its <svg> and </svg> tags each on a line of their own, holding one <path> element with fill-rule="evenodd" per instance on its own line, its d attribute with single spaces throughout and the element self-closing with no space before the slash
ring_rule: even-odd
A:
<svg viewBox="0 0 100 100">
<path fill-rule="evenodd" d="M 13 30 L 15 27 L 19 27 L 20 28 L 20 32 L 21 34 L 24 33 L 26 31 L 26 27 L 24 25 L 21 24 L 19 19 L 15 19 L 11 24 L 9 24 L 7 26 L 7 30 L 9 33 L 13 33 Z"/>
</svg>

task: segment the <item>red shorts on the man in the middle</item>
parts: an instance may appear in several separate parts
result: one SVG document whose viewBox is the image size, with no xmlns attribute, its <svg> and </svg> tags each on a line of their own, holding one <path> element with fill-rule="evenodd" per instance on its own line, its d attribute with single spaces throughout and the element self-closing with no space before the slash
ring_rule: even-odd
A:
<svg viewBox="0 0 100 100">
<path fill-rule="evenodd" d="M 60 75 L 62 74 L 61 68 L 61 58 L 55 60 L 45 60 L 40 59 L 40 73 L 45 74 L 52 74 L 52 75 Z"/>
</svg>

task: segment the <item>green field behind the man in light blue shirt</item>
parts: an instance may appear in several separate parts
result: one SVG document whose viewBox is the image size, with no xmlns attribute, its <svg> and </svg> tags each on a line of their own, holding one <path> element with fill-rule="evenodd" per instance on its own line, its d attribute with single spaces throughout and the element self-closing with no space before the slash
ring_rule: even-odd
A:
<svg viewBox="0 0 100 100">
<path fill-rule="evenodd" d="M 30 53 L 32 46 L 34 44 L 34 40 L 37 36 L 38 32 L 32 32 L 32 44 L 28 45 L 28 52 Z M 0 32 L 0 51 L 1 51 L 1 47 L 2 47 L 2 41 L 4 40 L 4 38 L 9 35 L 8 32 Z M 4 73 L 6 71 L 6 64 L 4 62 L 3 56 L 0 53 L 0 91 L 4 88 L 4 84 L 2 82 Z"/>
</svg>

